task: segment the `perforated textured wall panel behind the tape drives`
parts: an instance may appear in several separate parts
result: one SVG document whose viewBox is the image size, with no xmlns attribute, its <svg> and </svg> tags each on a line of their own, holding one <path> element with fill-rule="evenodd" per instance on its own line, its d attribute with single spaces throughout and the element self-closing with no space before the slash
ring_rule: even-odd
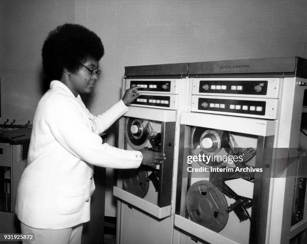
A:
<svg viewBox="0 0 307 244">
<path fill-rule="evenodd" d="M 124 66 L 307 58 L 306 13 L 307 1 L 76 0 L 75 22 L 96 32 L 105 47 L 90 111 L 99 114 L 120 99 Z M 115 216 L 106 201 L 106 215 Z"/>
</svg>

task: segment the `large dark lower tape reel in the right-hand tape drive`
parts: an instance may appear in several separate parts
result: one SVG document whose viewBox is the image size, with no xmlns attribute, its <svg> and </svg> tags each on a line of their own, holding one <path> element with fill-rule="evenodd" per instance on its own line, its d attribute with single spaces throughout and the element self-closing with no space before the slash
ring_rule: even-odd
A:
<svg viewBox="0 0 307 244">
<path fill-rule="evenodd" d="M 188 190 L 187 210 L 192 221 L 216 232 L 227 224 L 227 201 L 224 194 L 208 180 L 195 182 Z"/>
</svg>

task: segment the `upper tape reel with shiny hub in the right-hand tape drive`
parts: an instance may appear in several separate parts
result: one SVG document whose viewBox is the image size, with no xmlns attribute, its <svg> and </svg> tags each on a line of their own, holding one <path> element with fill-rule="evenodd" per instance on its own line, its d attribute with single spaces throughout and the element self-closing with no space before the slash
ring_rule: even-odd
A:
<svg viewBox="0 0 307 244">
<path fill-rule="evenodd" d="M 223 130 L 212 130 L 203 127 L 193 127 L 191 132 L 191 152 L 194 156 L 205 155 L 228 155 L 229 153 L 229 133 Z M 223 167 L 227 162 L 209 162 L 198 163 L 204 167 Z"/>
</svg>

